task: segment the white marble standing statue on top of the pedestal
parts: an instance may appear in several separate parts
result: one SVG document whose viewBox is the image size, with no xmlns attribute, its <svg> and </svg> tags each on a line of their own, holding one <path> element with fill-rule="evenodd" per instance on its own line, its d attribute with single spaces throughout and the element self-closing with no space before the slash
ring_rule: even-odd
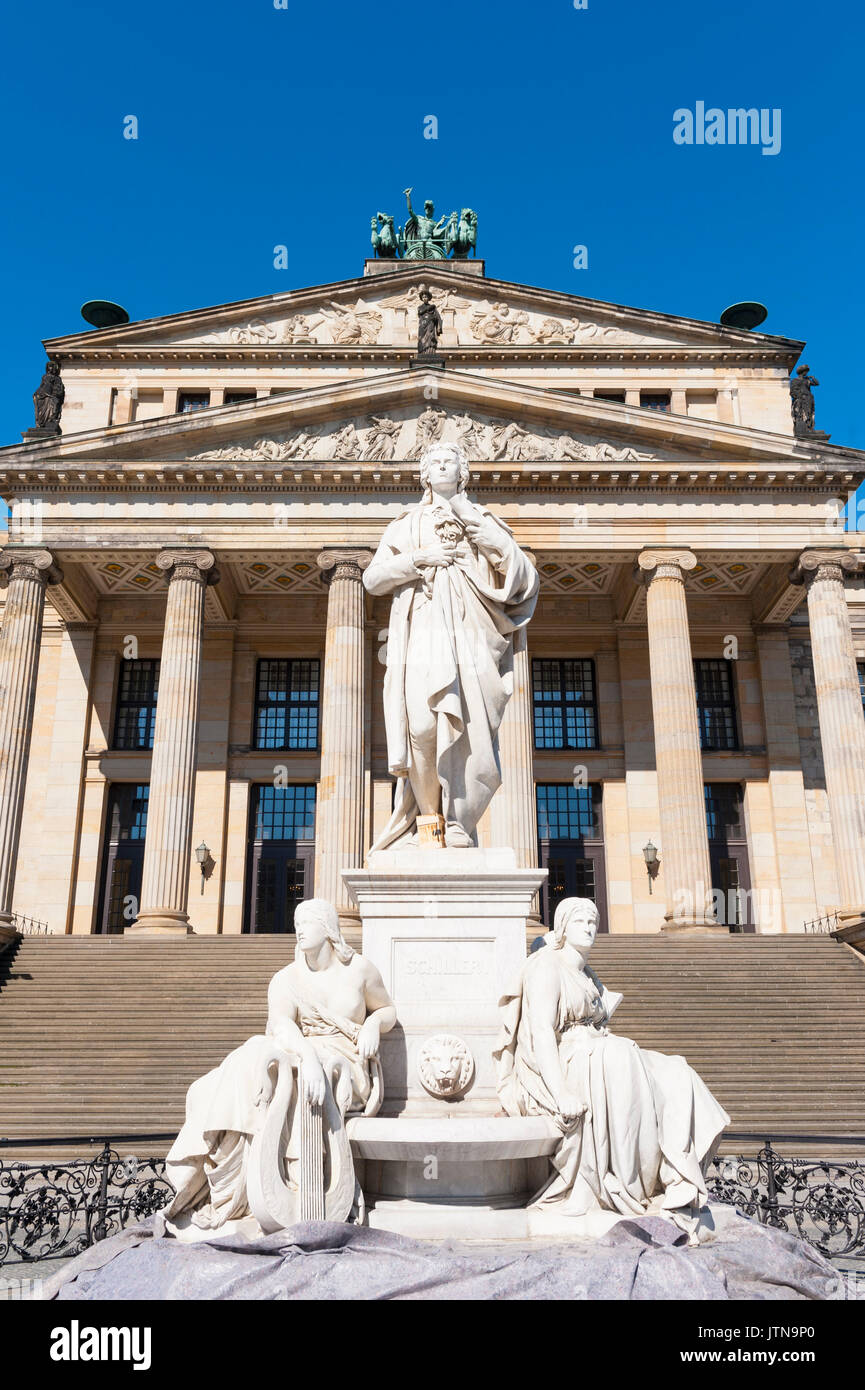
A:
<svg viewBox="0 0 865 1390">
<path fill-rule="evenodd" d="M 513 689 L 513 634 L 534 613 L 538 574 L 503 521 L 466 496 L 458 445 L 420 460 L 423 500 L 391 521 L 364 571 L 392 594 L 384 680 L 394 815 L 373 849 L 412 842 L 441 815 L 445 845 L 476 844 L 501 784 L 496 735 Z"/>
</svg>

